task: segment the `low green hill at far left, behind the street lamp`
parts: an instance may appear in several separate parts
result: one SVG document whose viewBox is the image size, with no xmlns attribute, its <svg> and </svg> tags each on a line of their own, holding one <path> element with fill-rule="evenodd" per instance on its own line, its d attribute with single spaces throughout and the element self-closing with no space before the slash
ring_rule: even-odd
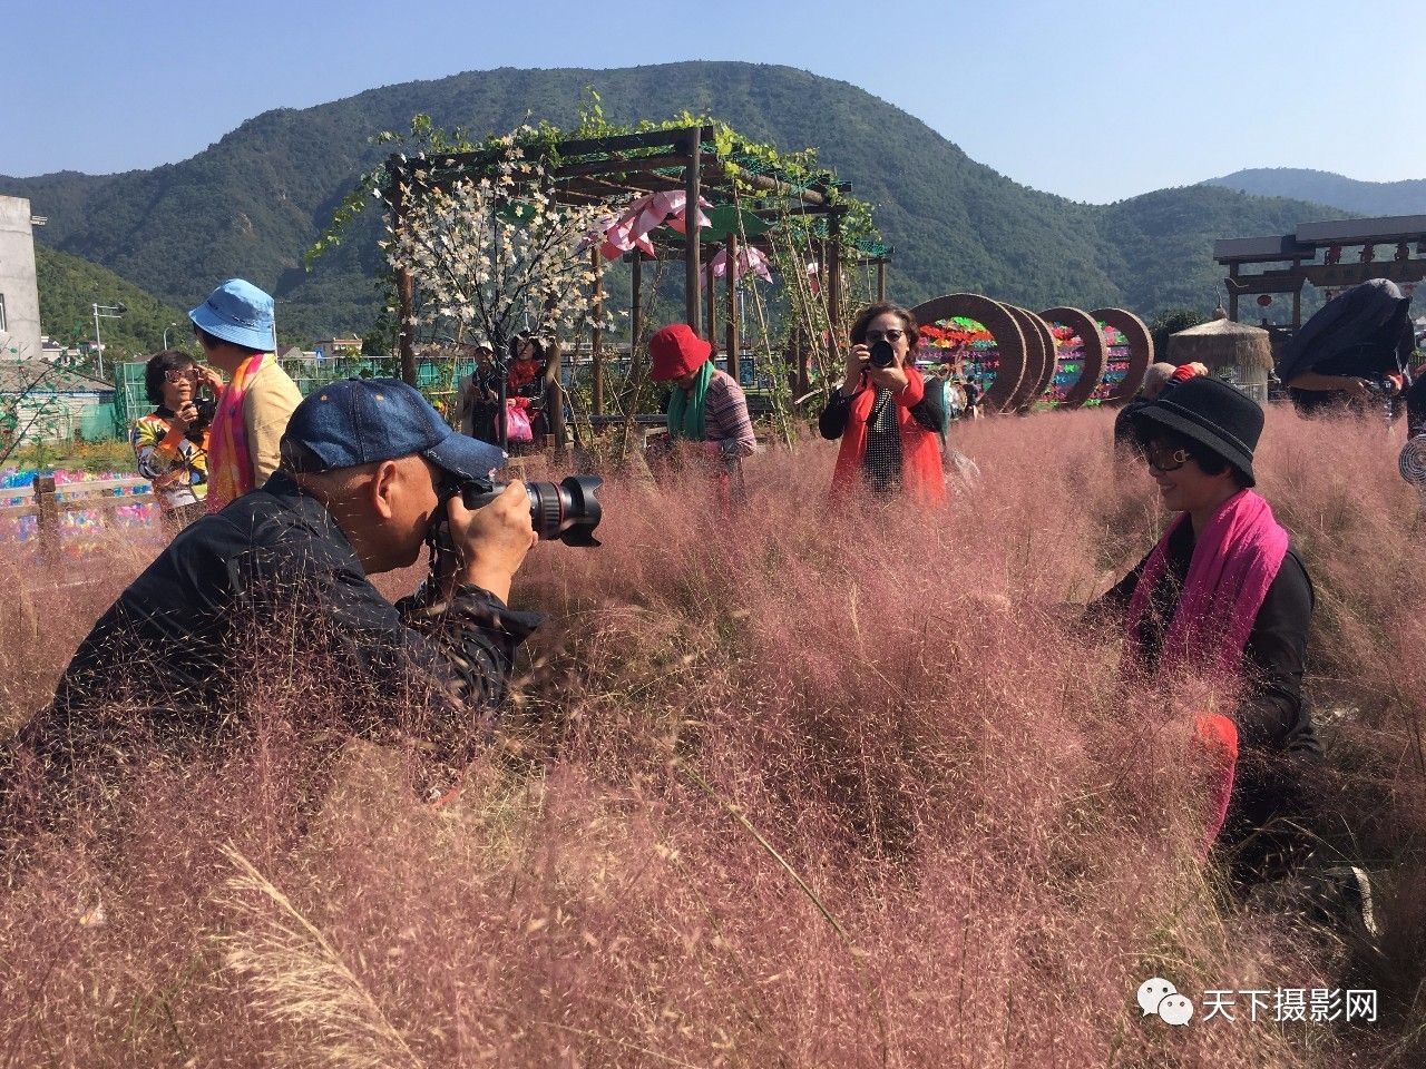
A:
<svg viewBox="0 0 1426 1069">
<path fill-rule="evenodd" d="M 124 305 L 117 319 L 101 319 L 104 355 L 147 356 L 158 352 L 168 331 L 170 345 L 191 339 L 188 316 L 165 305 L 108 268 L 36 242 L 34 272 L 40 286 L 40 329 L 64 345 L 94 341 L 93 305 Z"/>
</svg>

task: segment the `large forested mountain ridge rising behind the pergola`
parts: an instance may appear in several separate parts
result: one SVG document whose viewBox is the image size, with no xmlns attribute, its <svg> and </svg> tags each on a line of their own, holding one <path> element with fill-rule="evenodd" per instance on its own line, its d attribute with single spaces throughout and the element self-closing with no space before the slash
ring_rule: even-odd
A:
<svg viewBox="0 0 1426 1069">
<path fill-rule="evenodd" d="M 1329 210 L 1229 190 L 1165 190 L 1112 205 L 1038 192 L 975 162 L 924 123 L 844 81 L 789 67 L 677 63 L 627 70 L 493 70 L 369 90 L 305 110 L 270 111 L 178 164 L 114 175 L 3 178 L 50 217 L 47 239 L 97 261 L 175 308 L 242 275 L 274 292 L 284 339 L 362 331 L 374 318 L 378 224 L 308 274 L 301 257 L 355 177 L 418 111 L 443 127 L 576 124 L 585 87 L 612 123 L 707 113 L 820 160 L 876 205 L 896 247 L 890 285 L 915 304 L 977 291 L 1030 308 L 1176 304 L 1208 309 L 1221 272 L 1211 242 L 1286 232 Z M 374 217 L 374 212 L 369 214 Z"/>
</svg>

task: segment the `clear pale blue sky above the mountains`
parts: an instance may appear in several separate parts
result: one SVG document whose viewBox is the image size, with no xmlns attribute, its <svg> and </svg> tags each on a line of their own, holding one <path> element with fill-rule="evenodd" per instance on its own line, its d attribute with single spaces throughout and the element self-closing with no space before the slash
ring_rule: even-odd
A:
<svg viewBox="0 0 1426 1069">
<path fill-rule="evenodd" d="M 268 108 L 463 70 L 707 58 L 850 81 L 1074 200 L 1241 167 L 1426 178 L 1426 0 L 10 0 L 0 14 L 11 175 L 177 162 Z"/>
</svg>

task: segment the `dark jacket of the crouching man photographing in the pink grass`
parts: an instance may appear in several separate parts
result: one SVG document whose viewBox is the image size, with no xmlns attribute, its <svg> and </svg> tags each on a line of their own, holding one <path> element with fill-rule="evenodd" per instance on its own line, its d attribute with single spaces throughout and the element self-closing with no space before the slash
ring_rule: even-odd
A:
<svg viewBox="0 0 1426 1069">
<path fill-rule="evenodd" d="M 347 733 L 381 738 L 415 725 L 449 751 L 436 757 L 459 761 L 503 700 L 515 650 L 538 623 L 475 587 L 446 604 L 391 604 L 322 505 L 278 472 L 183 530 L 134 580 L 20 743 L 51 765 L 80 760 L 87 745 L 116 743 L 107 711 L 116 701 L 147 710 L 150 731 L 210 741 L 241 717 L 234 694 L 247 674 L 291 657 L 338 673 L 331 686 L 352 696 L 339 725 Z M 388 696 L 376 710 L 389 717 L 359 694 Z"/>
</svg>

